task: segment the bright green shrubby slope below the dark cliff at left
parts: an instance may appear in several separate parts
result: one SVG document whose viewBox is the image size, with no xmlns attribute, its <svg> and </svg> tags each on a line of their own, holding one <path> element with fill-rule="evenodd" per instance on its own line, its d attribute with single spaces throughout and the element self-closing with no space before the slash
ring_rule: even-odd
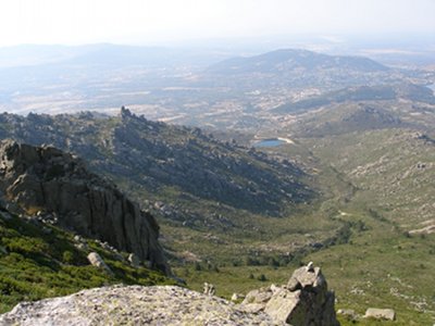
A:
<svg viewBox="0 0 435 326">
<path fill-rule="evenodd" d="M 162 274 L 134 268 L 97 242 L 88 240 L 113 271 L 109 276 L 87 261 L 73 235 L 53 226 L 0 212 L 0 313 L 21 301 L 65 296 L 113 284 L 174 284 Z M 125 254 L 124 254 L 125 255 Z"/>
</svg>

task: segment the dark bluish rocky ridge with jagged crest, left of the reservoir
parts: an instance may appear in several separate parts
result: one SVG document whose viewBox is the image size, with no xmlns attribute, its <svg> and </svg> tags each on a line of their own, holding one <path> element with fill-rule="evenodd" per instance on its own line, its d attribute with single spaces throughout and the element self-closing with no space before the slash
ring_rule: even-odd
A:
<svg viewBox="0 0 435 326">
<path fill-rule="evenodd" d="M 283 205 L 309 200 L 313 192 L 291 163 L 223 143 L 190 129 L 154 123 L 124 110 L 117 117 L 91 114 L 0 116 L 0 137 L 75 152 L 91 168 L 124 177 L 130 188 L 152 196 L 176 191 L 175 199 L 198 198 L 271 215 Z"/>
</svg>

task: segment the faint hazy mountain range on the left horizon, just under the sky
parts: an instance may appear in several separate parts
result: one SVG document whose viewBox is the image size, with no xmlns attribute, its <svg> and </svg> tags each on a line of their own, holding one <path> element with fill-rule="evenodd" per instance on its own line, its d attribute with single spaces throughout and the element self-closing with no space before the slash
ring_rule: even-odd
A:
<svg viewBox="0 0 435 326">
<path fill-rule="evenodd" d="M 86 46 L 42 46 L 22 45 L 0 48 L 0 68 L 58 65 L 71 70 L 71 65 L 100 66 L 170 66 L 183 64 L 207 65 L 227 54 L 213 50 L 189 51 L 182 48 L 122 46 L 112 43 L 92 43 Z"/>
</svg>

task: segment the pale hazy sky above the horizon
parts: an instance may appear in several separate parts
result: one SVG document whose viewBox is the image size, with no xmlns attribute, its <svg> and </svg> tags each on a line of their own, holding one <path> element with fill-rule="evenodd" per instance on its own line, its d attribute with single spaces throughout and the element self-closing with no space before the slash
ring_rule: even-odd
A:
<svg viewBox="0 0 435 326">
<path fill-rule="evenodd" d="M 435 0 L 0 0 L 0 46 L 433 33 Z"/>
</svg>

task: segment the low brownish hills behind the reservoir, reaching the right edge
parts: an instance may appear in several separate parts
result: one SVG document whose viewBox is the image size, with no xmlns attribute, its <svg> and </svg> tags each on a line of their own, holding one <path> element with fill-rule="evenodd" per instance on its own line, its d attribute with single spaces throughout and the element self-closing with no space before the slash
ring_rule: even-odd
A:
<svg viewBox="0 0 435 326">
<path fill-rule="evenodd" d="M 272 110 L 290 138 L 344 135 L 374 129 L 409 128 L 433 134 L 435 97 L 418 85 L 346 88 Z M 271 137 L 268 130 L 262 131 Z"/>
</svg>

